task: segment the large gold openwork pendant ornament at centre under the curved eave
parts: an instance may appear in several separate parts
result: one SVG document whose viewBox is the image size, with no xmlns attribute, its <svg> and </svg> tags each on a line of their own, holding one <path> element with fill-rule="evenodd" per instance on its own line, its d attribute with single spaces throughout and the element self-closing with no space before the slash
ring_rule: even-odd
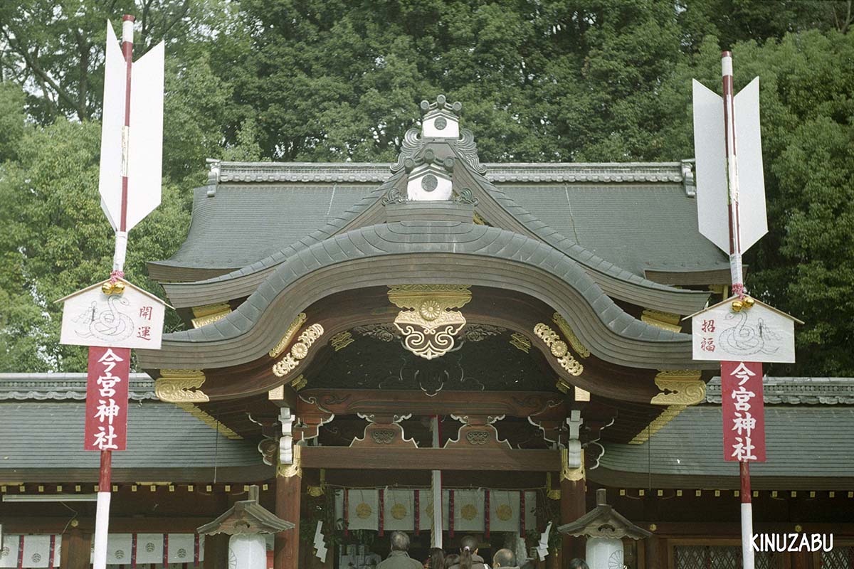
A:
<svg viewBox="0 0 854 569">
<path fill-rule="evenodd" d="M 395 285 L 389 300 L 404 310 L 395 317 L 403 345 L 413 354 L 433 359 L 455 345 L 454 336 L 465 326 L 462 308 L 471 300 L 470 285 Z"/>
</svg>

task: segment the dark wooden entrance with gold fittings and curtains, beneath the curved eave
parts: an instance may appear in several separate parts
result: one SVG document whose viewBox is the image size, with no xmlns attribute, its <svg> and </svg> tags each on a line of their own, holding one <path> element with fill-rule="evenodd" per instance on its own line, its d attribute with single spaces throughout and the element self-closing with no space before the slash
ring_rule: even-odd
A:
<svg viewBox="0 0 854 569">
<path fill-rule="evenodd" d="M 416 319 L 407 305 L 457 319 L 447 323 L 451 340 L 406 334 L 414 325 L 401 320 Z M 325 324 L 307 316 L 330 311 L 336 320 L 319 318 Z M 430 358 L 418 353 L 429 350 Z M 545 303 L 431 285 L 332 295 L 290 322 L 266 362 L 163 370 L 157 385 L 161 398 L 217 397 L 194 405 L 234 433 L 260 435 L 260 454 L 276 467 L 271 511 L 295 525 L 275 539 L 277 569 L 371 566 L 395 530 L 407 532 L 420 560 L 473 535 L 483 554 L 506 547 L 557 563 L 584 554 L 583 539 L 557 527 L 590 507 L 586 470 L 598 441 L 617 415 L 625 418 L 612 433 L 624 439 L 658 413 L 584 388 L 616 389 L 629 374 L 640 378 L 636 391 L 655 389 L 651 373 L 594 357 Z M 247 386 L 260 392 L 239 397 Z"/>
</svg>

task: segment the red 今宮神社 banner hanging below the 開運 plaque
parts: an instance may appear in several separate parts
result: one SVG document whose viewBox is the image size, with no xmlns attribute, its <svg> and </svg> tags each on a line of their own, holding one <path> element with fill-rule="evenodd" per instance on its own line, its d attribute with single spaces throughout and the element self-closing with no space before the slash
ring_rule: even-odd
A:
<svg viewBox="0 0 854 569">
<path fill-rule="evenodd" d="M 130 348 L 90 346 L 84 450 L 125 450 Z"/>
</svg>

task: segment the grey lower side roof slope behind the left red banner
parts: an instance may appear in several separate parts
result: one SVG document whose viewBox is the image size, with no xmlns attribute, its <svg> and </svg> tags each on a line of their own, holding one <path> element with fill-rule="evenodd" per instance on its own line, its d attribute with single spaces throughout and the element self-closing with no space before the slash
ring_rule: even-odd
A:
<svg viewBox="0 0 854 569">
<path fill-rule="evenodd" d="M 0 404 L 0 480 L 97 481 L 99 453 L 83 450 L 84 424 L 82 402 Z M 173 404 L 130 405 L 127 450 L 113 453 L 116 482 L 210 480 L 214 464 L 223 475 L 263 467 L 254 444 L 225 438 Z"/>
</svg>

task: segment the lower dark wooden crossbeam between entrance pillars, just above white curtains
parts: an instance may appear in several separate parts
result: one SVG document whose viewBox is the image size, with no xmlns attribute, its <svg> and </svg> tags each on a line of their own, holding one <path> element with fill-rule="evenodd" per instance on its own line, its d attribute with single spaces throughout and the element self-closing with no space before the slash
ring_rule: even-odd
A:
<svg viewBox="0 0 854 569">
<path fill-rule="evenodd" d="M 559 472 L 560 451 L 540 449 L 352 449 L 335 446 L 305 446 L 301 449 L 304 468 L 340 468 L 358 464 L 363 469 L 504 470 Z"/>
</svg>

